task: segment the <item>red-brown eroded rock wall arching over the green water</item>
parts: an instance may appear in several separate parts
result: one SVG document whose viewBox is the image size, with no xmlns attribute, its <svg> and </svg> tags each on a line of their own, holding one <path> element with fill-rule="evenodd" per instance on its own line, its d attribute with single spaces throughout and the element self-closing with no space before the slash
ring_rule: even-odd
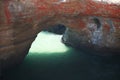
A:
<svg viewBox="0 0 120 80">
<path fill-rule="evenodd" d="M 37 33 L 58 24 L 68 27 L 63 38 L 65 42 L 120 52 L 119 3 L 95 0 L 0 0 L 0 10 L 1 69 L 20 63 Z"/>
</svg>

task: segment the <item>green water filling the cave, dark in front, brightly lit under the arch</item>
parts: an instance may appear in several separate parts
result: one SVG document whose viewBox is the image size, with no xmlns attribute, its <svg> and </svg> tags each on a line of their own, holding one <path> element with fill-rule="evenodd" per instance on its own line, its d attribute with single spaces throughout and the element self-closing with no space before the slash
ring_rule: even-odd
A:
<svg viewBox="0 0 120 80">
<path fill-rule="evenodd" d="M 66 47 L 61 35 L 41 32 L 24 62 L 4 80 L 120 80 L 120 56 L 101 56 Z M 42 45 L 42 46 L 41 46 Z"/>
</svg>

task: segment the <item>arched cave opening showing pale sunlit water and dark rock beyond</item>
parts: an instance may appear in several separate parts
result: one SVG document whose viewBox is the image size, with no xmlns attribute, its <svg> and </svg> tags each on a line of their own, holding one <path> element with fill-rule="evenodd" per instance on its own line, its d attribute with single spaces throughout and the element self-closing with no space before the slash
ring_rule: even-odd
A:
<svg viewBox="0 0 120 80">
<path fill-rule="evenodd" d="M 33 41 L 29 53 L 64 53 L 68 50 L 62 42 L 66 26 L 62 24 L 43 29 Z"/>
</svg>

